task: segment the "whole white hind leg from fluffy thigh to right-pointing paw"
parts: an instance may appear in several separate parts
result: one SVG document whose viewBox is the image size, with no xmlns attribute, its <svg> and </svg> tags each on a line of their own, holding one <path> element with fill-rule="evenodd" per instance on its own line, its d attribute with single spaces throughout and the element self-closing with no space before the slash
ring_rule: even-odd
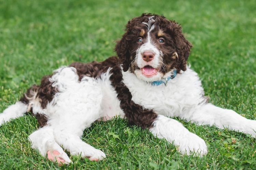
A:
<svg viewBox="0 0 256 170">
<path fill-rule="evenodd" d="M 53 127 L 56 142 L 70 154 L 101 160 L 105 154 L 81 140 L 84 129 L 101 117 L 101 87 L 88 77 L 73 86 L 56 97 L 56 110 L 47 123 Z"/>
</svg>

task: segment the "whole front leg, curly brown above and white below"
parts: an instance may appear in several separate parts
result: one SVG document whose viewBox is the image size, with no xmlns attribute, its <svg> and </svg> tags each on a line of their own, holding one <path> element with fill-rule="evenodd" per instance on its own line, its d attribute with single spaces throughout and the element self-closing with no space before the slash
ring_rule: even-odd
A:
<svg viewBox="0 0 256 170">
<path fill-rule="evenodd" d="M 115 73 L 118 70 L 113 68 Z M 119 75 L 122 75 L 120 72 Z M 130 124 L 139 125 L 142 128 L 148 128 L 155 136 L 165 138 L 174 145 L 179 146 L 181 153 L 190 154 L 196 152 L 196 155 L 207 153 L 207 146 L 203 139 L 197 135 L 190 133 L 184 126 L 176 120 L 156 114 L 153 110 L 145 109 L 143 106 L 134 103 L 132 95 L 121 77 L 118 78 L 114 74 L 110 79 L 115 86 L 117 98 L 120 100 L 120 107 L 125 113 L 125 117 Z"/>
</svg>

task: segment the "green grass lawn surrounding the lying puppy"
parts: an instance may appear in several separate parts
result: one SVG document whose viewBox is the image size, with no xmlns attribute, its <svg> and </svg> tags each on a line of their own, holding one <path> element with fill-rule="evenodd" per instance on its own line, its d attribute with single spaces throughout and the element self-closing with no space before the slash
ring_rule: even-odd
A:
<svg viewBox="0 0 256 170">
<path fill-rule="evenodd" d="M 115 55 L 126 22 L 144 12 L 182 24 L 194 46 L 188 62 L 210 102 L 256 119 L 254 0 L 0 0 L 0 113 L 59 66 Z M 206 156 L 181 155 L 148 130 L 113 119 L 94 123 L 83 135 L 106 153 L 104 160 L 70 156 L 72 164 L 58 167 L 30 148 L 27 138 L 38 123 L 26 115 L 0 127 L 0 169 L 255 169 L 255 138 L 175 119 L 207 142 Z"/>
</svg>

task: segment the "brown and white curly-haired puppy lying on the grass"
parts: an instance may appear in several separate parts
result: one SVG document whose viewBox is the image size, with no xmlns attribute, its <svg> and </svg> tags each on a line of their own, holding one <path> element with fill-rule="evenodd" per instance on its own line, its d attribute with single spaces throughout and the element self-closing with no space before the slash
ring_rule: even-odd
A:
<svg viewBox="0 0 256 170">
<path fill-rule="evenodd" d="M 116 116 L 187 155 L 203 156 L 207 145 L 170 117 L 255 137 L 255 120 L 208 102 L 197 73 L 187 66 L 192 45 L 177 22 L 146 13 L 128 21 L 125 31 L 115 47 L 117 57 L 60 67 L 6 108 L 0 125 L 33 113 L 40 129 L 29 136 L 31 146 L 58 164 L 71 162 L 62 147 L 89 160 L 105 158 L 81 136 L 93 122 Z"/>
</svg>

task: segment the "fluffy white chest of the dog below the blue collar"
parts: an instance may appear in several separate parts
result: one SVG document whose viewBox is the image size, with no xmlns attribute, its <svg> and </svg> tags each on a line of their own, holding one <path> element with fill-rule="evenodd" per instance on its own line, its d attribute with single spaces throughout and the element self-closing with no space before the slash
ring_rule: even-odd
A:
<svg viewBox="0 0 256 170">
<path fill-rule="evenodd" d="M 167 86 L 151 85 L 129 72 L 123 72 L 123 79 L 135 103 L 153 109 L 157 114 L 172 117 L 180 116 L 200 103 L 201 82 L 194 71 L 191 73 L 189 70 L 186 74 L 177 75 L 169 80 Z"/>
</svg>

